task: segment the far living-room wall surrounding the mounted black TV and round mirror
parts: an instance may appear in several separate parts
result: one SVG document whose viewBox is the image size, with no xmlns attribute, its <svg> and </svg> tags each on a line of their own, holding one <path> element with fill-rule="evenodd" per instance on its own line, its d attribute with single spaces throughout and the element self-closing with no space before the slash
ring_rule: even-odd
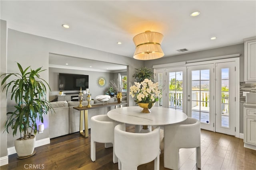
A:
<svg viewBox="0 0 256 170">
<path fill-rule="evenodd" d="M 109 88 L 110 80 L 114 79 L 114 73 L 110 72 L 93 72 L 93 71 L 85 71 L 85 70 L 71 70 L 71 69 L 61 69 L 61 68 L 49 68 L 49 85 L 52 92 L 49 93 L 49 100 L 53 100 L 56 98 L 56 95 L 59 94 L 58 90 L 58 75 L 59 73 L 67 73 L 67 74 L 84 74 L 89 75 L 89 90 L 92 95 L 92 99 L 100 94 L 105 94 Z M 102 76 L 106 78 L 106 85 L 103 87 L 98 86 L 97 80 Z M 82 89 L 85 90 L 85 89 Z M 68 92 L 78 92 L 75 91 L 64 91 L 64 93 Z"/>
</svg>

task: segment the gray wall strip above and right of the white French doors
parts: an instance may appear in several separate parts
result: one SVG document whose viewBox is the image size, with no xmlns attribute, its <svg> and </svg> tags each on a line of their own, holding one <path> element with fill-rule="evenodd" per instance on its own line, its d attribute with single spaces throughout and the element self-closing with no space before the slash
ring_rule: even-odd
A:
<svg viewBox="0 0 256 170">
<path fill-rule="evenodd" d="M 241 53 L 240 56 L 240 82 L 244 81 L 244 43 L 237 45 L 230 45 L 227 47 L 220 47 L 216 49 L 209 49 L 204 51 L 198 51 L 194 53 L 187 53 L 182 55 L 176 55 L 171 57 L 163 57 L 157 60 L 145 61 L 145 66 L 152 68 L 153 65 L 166 64 L 166 63 L 176 63 L 181 61 L 189 61 L 196 59 L 206 59 L 210 57 L 219 57 L 225 55 L 232 55 Z M 240 133 L 244 133 L 244 119 L 243 119 L 243 109 L 240 104 Z"/>
</svg>

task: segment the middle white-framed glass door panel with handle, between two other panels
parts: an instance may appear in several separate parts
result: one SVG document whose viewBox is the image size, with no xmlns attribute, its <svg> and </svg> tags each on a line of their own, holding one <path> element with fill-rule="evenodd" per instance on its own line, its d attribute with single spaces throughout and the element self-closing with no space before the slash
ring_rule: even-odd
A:
<svg viewBox="0 0 256 170">
<path fill-rule="evenodd" d="M 202 129 L 213 131 L 213 64 L 188 66 L 188 116 L 198 119 Z"/>
</svg>

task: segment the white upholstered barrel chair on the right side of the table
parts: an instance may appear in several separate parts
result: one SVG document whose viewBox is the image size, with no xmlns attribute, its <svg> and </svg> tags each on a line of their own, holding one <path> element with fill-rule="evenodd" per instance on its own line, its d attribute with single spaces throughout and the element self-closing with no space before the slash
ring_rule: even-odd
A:
<svg viewBox="0 0 256 170">
<path fill-rule="evenodd" d="M 188 117 L 180 123 L 164 126 L 164 167 L 179 169 L 179 149 L 196 148 L 196 165 L 201 168 L 200 121 Z"/>
</svg>

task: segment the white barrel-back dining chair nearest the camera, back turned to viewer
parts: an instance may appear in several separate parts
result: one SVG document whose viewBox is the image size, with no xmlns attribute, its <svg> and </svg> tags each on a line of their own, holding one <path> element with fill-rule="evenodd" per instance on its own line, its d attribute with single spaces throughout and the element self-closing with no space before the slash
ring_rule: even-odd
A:
<svg viewBox="0 0 256 170">
<path fill-rule="evenodd" d="M 154 170 L 159 170 L 160 132 L 156 127 L 149 133 L 130 133 L 125 124 L 119 124 L 114 130 L 115 153 L 118 157 L 118 169 L 136 170 L 141 164 L 154 160 Z"/>
</svg>

